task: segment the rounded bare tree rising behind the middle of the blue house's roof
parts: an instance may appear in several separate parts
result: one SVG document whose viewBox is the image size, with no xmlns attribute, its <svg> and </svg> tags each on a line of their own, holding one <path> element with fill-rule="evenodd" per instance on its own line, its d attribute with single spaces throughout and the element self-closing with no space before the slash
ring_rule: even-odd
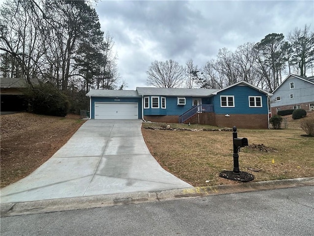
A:
<svg viewBox="0 0 314 236">
<path fill-rule="evenodd" d="M 177 61 L 155 60 L 146 71 L 146 84 L 159 88 L 178 88 L 183 83 L 184 69 Z"/>
</svg>

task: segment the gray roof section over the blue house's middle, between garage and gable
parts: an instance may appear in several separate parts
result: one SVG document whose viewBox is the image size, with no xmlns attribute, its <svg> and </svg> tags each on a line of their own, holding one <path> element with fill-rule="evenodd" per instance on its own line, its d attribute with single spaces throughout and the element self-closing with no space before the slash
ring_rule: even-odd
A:
<svg viewBox="0 0 314 236">
<path fill-rule="evenodd" d="M 136 88 L 138 95 L 207 97 L 217 89 Z"/>
</svg>

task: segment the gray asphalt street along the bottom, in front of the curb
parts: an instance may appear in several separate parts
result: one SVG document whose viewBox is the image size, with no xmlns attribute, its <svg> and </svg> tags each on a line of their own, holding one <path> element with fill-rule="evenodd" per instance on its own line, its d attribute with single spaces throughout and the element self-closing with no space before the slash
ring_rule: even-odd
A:
<svg viewBox="0 0 314 236">
<path fill-rule="evenodd" d="M 314 186 L 1 218 L 1 236 L 313 236 Z"/>
</svg>

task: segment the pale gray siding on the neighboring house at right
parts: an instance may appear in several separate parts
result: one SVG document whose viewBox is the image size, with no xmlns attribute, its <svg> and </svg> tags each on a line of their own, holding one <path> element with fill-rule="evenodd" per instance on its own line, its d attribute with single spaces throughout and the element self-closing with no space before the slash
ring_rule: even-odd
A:
<svg viewBox="0 0 314 236">
<path fill-rule="evenodd" d="M 294 89 L 290 89 L 290 83 L 294 82 Z M 290 98 L 290 94 L 293 94 L 293 98 Z M 280 96 L 280 101 L 276 100 L 276 97 Z M 300 105 L 314 102 L 314 84 L 298 79 L 294 76 L 289 76 L 278 89 L 273 92 L 271 99 L 271 107 L 284 107 L 293 105 Z M 309 110 L 309 107 L 304 107 L 305 110 Z M 274 109 L 272 109 L 273 111 Z M 284 108 L 282 108 L 284 110 Z M 277 112 L 276 112 L 277 113 Z"/>
</svg>

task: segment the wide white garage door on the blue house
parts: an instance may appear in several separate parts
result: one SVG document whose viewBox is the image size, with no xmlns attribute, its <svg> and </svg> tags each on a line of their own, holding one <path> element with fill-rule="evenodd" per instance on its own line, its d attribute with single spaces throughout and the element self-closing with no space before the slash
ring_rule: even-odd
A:
<svg viewBox="0 0 314 236">
<path fill-rule="evenodd" d="M 138 119 L 138 104 L 95 102 L 95 119 Z"/>
</svg>

